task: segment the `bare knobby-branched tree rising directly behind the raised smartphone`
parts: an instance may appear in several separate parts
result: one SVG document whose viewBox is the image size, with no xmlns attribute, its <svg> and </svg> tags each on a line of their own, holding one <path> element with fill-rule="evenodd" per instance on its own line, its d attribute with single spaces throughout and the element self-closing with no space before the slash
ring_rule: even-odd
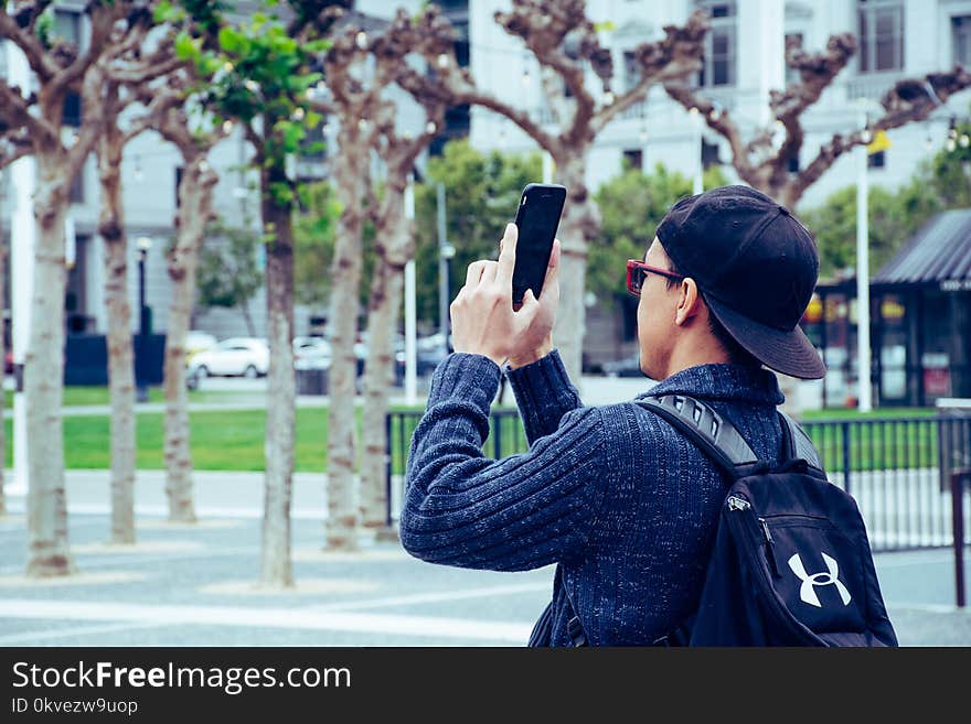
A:
<svg viewBox="0 0 971 724">
<path fill-rule="evenodd" d="M 511 11 L 497 12 L 495 20 L 508 33 L 521 39 L 542 66 L 543 91 L 554 128 L 541 123 L 526 109 L 480 90 L 468 69 L 455 62 L 455 34 L 434 10 L 418 21 L 425 39 L 423 54 L 452 105 L 479 105 L 510 119 L 549 153 L 556 166 L 556 181 L 567 187 L 558 234 L 563 249 L 563 302 L 554 337 L 567 371 L 579 380 L 586 328 L 587 247 L 599 229 L 599 214 L 585 179 L 590 148 L 610 121 L 644 100 L 652 86 L 687 78 L 701 68 L 708 24 L 696 12 L 684 26 L 665 26 L 663 40 L 638 45 L 633 51 L 638 80 L 628 90 L 616 93 L 611 89 L 615 68 L 610 51 L 600 44 L 594 23 L 586 15 L 584 0 L 513 0 Z M 593 69 L 599 91 L 589 83 L 588 68 Z"/>
</svg>

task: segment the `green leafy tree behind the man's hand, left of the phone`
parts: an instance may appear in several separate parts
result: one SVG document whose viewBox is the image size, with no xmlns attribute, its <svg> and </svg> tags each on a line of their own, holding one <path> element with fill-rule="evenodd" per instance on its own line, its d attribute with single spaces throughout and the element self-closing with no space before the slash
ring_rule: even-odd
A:
<svg viewBox="0 0 971 724">
<path fill-rule="evenodd" d="M 429 160 L 427 180 L 415 186 L 419 320 L 438 328 L 437 185 L 445 185 L 446 233 L 456 250 L 449 273 L 451 301 L 466 283 L 466 268 L 472 261 L 499 258 L 499 240 L 515 218 L 523 186 L 541 176 L 538 153 L 483 154 L 467 140 L 450 141 L 440 156 Z"/>
</svg>

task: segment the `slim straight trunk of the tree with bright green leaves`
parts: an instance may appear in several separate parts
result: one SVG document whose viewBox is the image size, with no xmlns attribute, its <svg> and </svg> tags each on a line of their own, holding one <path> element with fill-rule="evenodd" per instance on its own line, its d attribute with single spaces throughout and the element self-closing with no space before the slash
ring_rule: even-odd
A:
<svg viewBox="0 0 971 724">
<path fill-rule="evenodd" d="M 294 585 L 290 560 L 290 493 L 294 479 L 297 379 L 294 371 L 294 229 L 290 204 L 275 199 L 286 183 L 280 165 L 262 173 L 263 228 L 267 235 L 266 310 L 269 375 L 266 409 L 266 498 L 260 583 Z"/>
</svg>

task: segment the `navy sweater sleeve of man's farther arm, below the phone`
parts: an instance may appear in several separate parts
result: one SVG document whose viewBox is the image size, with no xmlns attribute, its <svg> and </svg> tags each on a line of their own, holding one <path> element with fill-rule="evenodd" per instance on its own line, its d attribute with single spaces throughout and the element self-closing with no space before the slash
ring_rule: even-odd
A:
<svg viewBox="0 0 971 724">
<path fill-rule="evenodd" d="M 516 369 L 506 367 L 505 377 L 531 445 L 533 441 L 553 434 L 564 414 L 581 407 L 579 392 L 569 381 L 558 349 L 530 365 Z"/>
</svg>

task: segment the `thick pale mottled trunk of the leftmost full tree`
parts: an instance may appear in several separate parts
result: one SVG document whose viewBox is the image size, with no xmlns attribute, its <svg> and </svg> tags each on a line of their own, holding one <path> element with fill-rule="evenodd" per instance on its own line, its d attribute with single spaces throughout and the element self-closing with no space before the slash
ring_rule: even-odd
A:
<svg viewBox="0 0 971 724">
<path fill-rule="evenodd" d="M 28 446 L 28 563 L 33 577 L 74 570 L 67 543 L 64 487 L 64 218 L 67 214 L 66 154 L 40 151 L 34 217 L 38 246 L 31 292 L 30 339 L 24 355 Z"/>
</svg>

